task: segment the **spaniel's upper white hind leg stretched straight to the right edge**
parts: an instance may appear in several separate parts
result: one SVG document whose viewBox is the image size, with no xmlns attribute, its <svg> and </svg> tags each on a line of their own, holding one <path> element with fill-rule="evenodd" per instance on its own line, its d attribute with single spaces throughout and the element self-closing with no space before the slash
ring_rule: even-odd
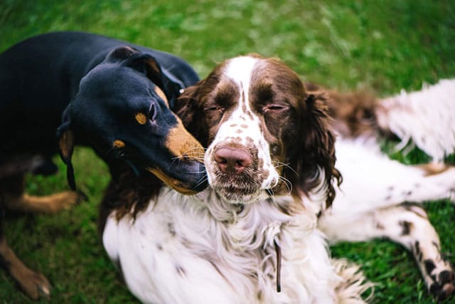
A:
<svg viewBox="0 0 455 304">
<path fill-rule="evenodd" d="M 401 204 L 454 199 L 455 167 L 447 164 L 406 165 L 374 147 L 340 140 L 337 167 L 343 175 L 333 213 L 358 214 Z"/>
</svg>

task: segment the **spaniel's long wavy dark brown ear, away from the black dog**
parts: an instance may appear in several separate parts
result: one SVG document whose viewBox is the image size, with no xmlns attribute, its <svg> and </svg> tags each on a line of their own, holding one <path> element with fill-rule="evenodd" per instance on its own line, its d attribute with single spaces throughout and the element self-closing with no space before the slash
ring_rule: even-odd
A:
<svg viewBox="0 0 455 304">
<path fill-rule="evenodd" d="M 323 90 L 306 93 L 301 105 L 303 137 L 299 184 L 304 185 L 303 190 L 306 194 L 311 193 L 316 187 L 326 188 L 326 207 L 329 207 L 335 198 L 333 182 L 341 184 L 342 177 L 335 167 L 335 135 L 331 130 L 326 93 Z"/>
</svg>

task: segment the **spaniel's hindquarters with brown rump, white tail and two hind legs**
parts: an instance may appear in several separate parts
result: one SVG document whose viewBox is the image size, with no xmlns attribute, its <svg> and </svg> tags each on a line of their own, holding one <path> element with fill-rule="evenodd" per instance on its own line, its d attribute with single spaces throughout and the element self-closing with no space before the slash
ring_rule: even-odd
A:
<svg viewBox="0 0 455 304">
<path fill-rule="evenodd" d="M 343 175 L 333 207 L 319 218 L 319 229 L 331 243 L 400 243 L 414 255 L 429 292 L 447 298 L 455 291 L 454 270 L 427 212 L 416 204 L 454 201 L 455 167 L 441 160 L 455 152 L 455 80 L 385 99 L 316 85 L 306 85 L 306 90 L 326 95 L 338 135 L 336 166 Z M 411 141 L 433 161 L 406 165 L 390 159 L 379 145 L 388 135 L 399 137 L 401 148 Z"/>
</svg>

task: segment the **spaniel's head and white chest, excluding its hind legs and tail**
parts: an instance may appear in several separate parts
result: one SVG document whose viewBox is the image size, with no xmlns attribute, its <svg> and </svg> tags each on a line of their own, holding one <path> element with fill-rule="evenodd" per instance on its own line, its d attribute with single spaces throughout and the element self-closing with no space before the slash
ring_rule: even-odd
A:
<svg viewBox="0 0 455 304">
<path fill-rule="evenodd" d="M 144 303 L 363 303 L 357 266 L 329 258 L 317 214 L 340 174 L 323 98 L 277 59 L 232 58 L 177 112 L 207 147 L 210 187 L 164 188 L 112 211 L 103 242 Z M 121 216 L 119 216 L 121 215 Z"/>
</svg>

